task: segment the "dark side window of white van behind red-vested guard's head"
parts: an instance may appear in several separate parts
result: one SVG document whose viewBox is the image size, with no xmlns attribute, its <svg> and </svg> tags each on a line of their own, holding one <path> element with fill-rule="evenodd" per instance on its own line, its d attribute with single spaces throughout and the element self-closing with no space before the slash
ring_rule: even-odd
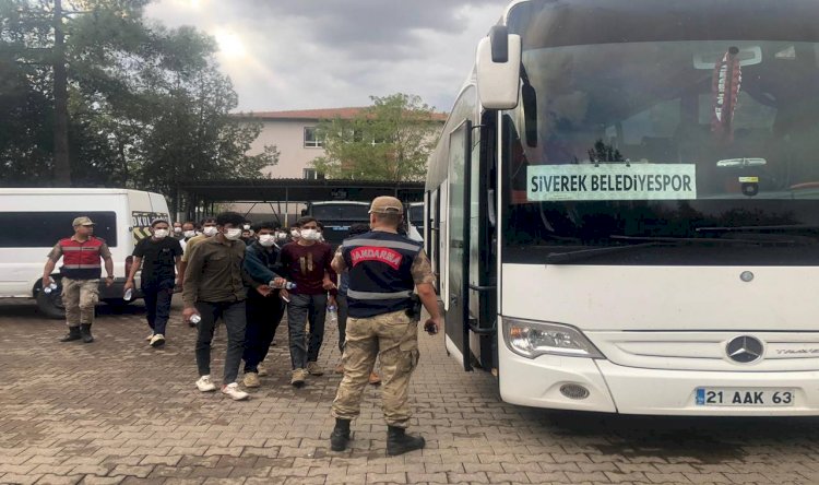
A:
<svg viewBox="0 0 819 485">
<path fill-rule="evenodd" d="M 50 248 L 71 237 L 74 217 L 85 215 L 96 223 L 94 236 L 117 246 L 116 212 L 0 212 L 0 248 Z"/>
</svg>

